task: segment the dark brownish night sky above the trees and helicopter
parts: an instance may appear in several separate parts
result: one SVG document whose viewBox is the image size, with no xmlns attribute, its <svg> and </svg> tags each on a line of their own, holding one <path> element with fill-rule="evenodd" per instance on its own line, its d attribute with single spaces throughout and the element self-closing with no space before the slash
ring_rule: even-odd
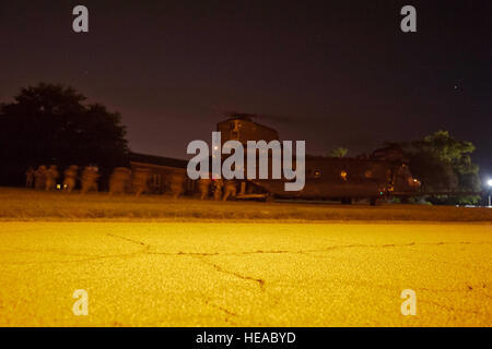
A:
<svg viewBox="0 0 492 349">
<path fill-rule="evenodd" d="M 90 33 L 72 31 L 85 4 Z M 400 31 L 405 4 L 418 33 Z M 0 101 L 39 81 L 121 112 L 132 151 L 186 157 L 223 112 L 307 152 L 438 129 L 473 142 L 492 176 L 492 1 L 0 0 Z"/>
</svg>

